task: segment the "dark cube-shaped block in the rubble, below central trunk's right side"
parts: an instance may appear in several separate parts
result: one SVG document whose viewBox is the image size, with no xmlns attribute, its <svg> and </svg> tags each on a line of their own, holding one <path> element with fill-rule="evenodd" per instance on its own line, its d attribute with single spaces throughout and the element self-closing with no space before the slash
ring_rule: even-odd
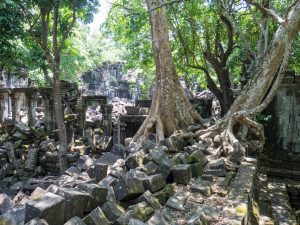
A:
<svg viewBox="0 0 300 225">
<path fill-rule="evenodd" d="M 172 168 L 172 174 L 176 183 L 187 185 L 192 178 L 192 169 L 188 164 L 178 164 Z"/>
</svg>

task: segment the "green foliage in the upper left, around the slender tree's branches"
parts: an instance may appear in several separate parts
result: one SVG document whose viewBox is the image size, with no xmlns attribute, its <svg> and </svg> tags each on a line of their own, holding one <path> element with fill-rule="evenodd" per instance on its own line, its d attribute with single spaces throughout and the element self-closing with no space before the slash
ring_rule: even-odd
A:
<svg viewBox="0 0 300 225">
<path fill-rule="evenodd" d="M 59 59 L 61 77 L 78 81 L 78 75 L 94 68 L 101 60 L 101 44 L 98 36 L 90 37 L 85 23 L 93 19 L 98 1 L 60 0 L 57 21 L 57 41 L 61 45 Z M 76 3 L 76 5 L 73 5 Z M 49 62 L 46 62 L 45 51 L 42 49 L 43 31 L 41 27 L 42 12 L 49 14 L 49 32 L 47 47 L 54 59 L 53 38 L 53 6 L 50 0 L 3 0 L 0 2 L 0 68 L 18 71 L 22 69 L 39 85 L 46 85 L 47 73 L 51 79 Z M 74 11 L 75 9 L 75 11 Z M 68 30 L 76 21 L 73 29 Z M 77 25 L 76 25 L 77 24 Z M 84 28 L 85 27 L 85 28 Z M 65 35 L 65 37 L 64 37 Z"/>
</svg>

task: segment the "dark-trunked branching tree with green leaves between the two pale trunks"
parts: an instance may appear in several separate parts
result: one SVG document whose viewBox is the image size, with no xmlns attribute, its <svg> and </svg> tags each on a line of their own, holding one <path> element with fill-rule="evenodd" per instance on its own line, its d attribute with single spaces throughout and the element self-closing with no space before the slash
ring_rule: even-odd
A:
<svg viewBox="0 0 300 225">
<path fill-rule="evenodd" d="M 233 25 L 220 3 L 209 3 L 208 7 L 203 2 L 190 1 L 182 5 L 170 10 L 171 30 L 180 44 L 180 56 L 185 66 L 204 72 L 207 87 L 220 101 L 223 116 L 233 102 L 228 66 L 234 50 Z"/>
</svg>

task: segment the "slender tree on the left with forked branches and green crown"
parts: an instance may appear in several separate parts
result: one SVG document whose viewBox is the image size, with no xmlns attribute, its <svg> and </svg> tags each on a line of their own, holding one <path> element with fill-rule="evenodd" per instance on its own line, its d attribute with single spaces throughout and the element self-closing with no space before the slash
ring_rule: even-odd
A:
<svg viewBox="0 0 300 225">
<path fill-rule="evenodd" d="M 19 2 L 29 26 L 29 34 L 42 49 L 52 72 L 55 122 L 59 137 L 59 165 L 68 167 L 67 133 L 61 96 L 61 56 L 78 20 L 89 22 L 98 1 L 88 0 L 28 0 Z"/>
</svg>

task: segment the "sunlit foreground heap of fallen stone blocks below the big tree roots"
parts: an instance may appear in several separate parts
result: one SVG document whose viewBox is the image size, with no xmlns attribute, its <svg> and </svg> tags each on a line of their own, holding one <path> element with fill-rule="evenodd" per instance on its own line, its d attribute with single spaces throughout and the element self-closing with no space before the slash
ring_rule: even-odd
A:
<svg viewBox="0 0 300 225">
<path fill-rule="evenodd" d="M 183 140 L 175 134 L 160 144 L 154 140 L 150 135 L 141 143 L 115 145 L 98 159 L 80 156 L 60 177 L 20 180 L 8 195 L 0 195 L 0 221 L 27 225 L 241 222 L 244 215 L 225 207 L 226 198 L 232 207 L 247 203 L 235 198 L 241 193 L 230 191 L 238 165 L 213 159 L 215 150 L 192 137 Z M 54 149 L 52 145 L 48 140 L 42 149 Z M 237 190 L 246 192 L 255 160 L 240 168 L 245 174 L 238 176 L 247 180 Z"/>
</svg>

